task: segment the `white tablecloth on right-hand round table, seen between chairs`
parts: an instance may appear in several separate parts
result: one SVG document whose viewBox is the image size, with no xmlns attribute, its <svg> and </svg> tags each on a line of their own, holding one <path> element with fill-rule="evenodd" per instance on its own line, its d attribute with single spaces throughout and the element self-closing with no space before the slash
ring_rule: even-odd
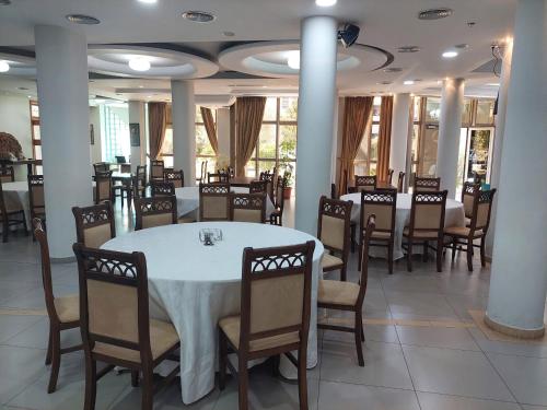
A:
<svg viewBox="0 0 547 410">
<path fill-rule="evenodd" d="M 361 194 L 342 195 L 340 199 L 345 201 L 352 200 L 353 208 L 351 209 L 351 221 L 359 226 L 361 218 Z M 393 249 L 393 258 L 400 259 L 405 255 L 403 253 L 403 230 L 410 223 L 410 208 L 412 206 L 411 194 L 397 194 L 397 211 L 395 213 L 395 246 Z M 446 199 L 446 212 L 444 215 L 444 226 L 465 226 L 464 204 L 454 199 Z M 358 229 L 359 231 L 359 229 Z M 387 256 L 387 250 L 380 247 L 372 247 L 369 253 L 374 257 Z"/>
</svg>

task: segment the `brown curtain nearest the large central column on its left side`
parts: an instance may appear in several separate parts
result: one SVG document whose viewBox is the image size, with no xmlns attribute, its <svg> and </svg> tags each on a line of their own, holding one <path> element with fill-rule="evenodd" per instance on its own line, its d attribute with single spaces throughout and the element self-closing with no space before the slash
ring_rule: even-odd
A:
<svg viewBox="0 0 547 410">
<path fill-rule="evenodd" d="M 245 165 L 258 141 L 263 126 L 266 97 L 238 97 L 235 102 L 236 144 L 235 144 L 235 175 L 245 174 Z"/>
</svg>

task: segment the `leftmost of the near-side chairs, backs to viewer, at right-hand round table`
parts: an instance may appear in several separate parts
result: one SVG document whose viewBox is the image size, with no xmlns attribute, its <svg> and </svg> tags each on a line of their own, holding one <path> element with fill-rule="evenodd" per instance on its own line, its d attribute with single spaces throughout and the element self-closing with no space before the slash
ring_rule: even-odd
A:
<svg viewBox="0 0 547 410">
<path fill-rule="evenodd" d="M 397 192 L 395 190 L 376 190 L 361 192 L 361 222 L 359 230 L 359 265 L 361 269 L 362 248 L 370 215 L 375 215 L 375 229 L 368 244 L 369 247 L 387 248 L 387 266 L 393 273 L 393 249 L 395 246 L 395 213 L 397 211 Z"/>
</svg>

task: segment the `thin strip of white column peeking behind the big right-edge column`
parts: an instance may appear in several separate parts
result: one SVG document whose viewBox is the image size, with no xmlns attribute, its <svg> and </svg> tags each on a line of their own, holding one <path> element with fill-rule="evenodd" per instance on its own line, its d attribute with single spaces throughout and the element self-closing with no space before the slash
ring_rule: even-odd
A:
<svg viewBox="0 0 547 410">
<path fill-rule="evenodd" d="M 500 90 L 498 92 L 498 114 L 496 115 L 496 136 L 493 138 L 492 168 L 490 171 L 490 186 L 498 188 L 500 185 L 501 152 L 503 149 L 503 132 L 505 130 L 505 113 L 508 108 L 509 82 L 511 81 L 511 60 L 513 58 L 513 40 L 507 43 L 503 50 L 501 66 Z M 490 216 L 490 226 L 486 237 L 486 254 L 491 258 L 493 237 L 496 232 L 496 214 L 498 212 L 498 198 L 494 198 Z"/>
</svg>

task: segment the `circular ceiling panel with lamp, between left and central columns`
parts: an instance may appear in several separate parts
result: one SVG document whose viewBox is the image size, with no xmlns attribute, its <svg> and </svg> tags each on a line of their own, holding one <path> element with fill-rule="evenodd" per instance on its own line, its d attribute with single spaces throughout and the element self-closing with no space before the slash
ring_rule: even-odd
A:
<svg viewBox="0 0 547 410">
<path fill-rule="evenodd" d="M 146 60 L 144 71 L 133 70 L 129 61 Z M 213 75 L 219 67 L 202 57 L 187 52 L 136 46 L 89 46 L 90 70 L 119 77 L 159 79 L 202 79 Z"/>
</svg>

